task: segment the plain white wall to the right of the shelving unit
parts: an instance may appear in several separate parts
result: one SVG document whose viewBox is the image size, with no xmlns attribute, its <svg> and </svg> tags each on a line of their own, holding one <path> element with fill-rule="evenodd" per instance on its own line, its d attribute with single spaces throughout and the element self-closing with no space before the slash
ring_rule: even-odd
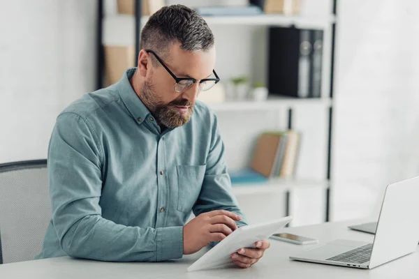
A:
<svg viewBox="0 0 419 279">
<path fill-rule="evenodd" d="M 376 216 L 388 183 L 419 174 L 419 2 L 340 0 L 338 13 L 332 212 L 340 220 Z"/>
</svg>

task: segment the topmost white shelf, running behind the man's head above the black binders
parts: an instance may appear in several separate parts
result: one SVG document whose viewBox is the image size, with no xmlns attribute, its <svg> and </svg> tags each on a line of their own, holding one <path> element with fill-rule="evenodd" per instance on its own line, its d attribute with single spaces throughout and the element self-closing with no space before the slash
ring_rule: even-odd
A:
<svg viewBox="0 0 419 279">
<path fill-rule="evenodd" d="M 144 26 L 148 16 L 141 17 L 141 25 Z M 249 26 L 282 26 L 295 25 L 302 28 L 327 28 L 335 22 L 334 15 L 324 17 L 302 15 L 230 15 L 230 16 L 207 16 L 205 21 L 210 26 L 218 25 L 249 25 Z M 103 44 L 104 45 L 134 45 L 133 15 L 108 14 L 103 18 Z"/>
</svg>

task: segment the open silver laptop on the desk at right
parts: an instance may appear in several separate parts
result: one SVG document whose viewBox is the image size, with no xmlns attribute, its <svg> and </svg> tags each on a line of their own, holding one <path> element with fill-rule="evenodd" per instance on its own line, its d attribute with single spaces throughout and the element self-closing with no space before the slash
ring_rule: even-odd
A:
<svg viewBox="0 0 419 279">
<path fill-rule="evenodd" d="M 419 176 L 385 188 L 373 243 L 337 239 L 291 255 L 290 259 L 319 264 L 373 269 L 416 252 L 419 241 Z"/>
</svg>

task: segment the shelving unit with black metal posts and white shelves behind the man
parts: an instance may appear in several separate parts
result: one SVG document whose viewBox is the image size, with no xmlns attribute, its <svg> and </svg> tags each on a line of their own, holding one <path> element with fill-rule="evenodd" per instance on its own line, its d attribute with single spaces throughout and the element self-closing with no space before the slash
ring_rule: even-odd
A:
<svg viewBox="0 0 419 279">
<path fill-rule="evenodd" d="M 101 88 L 103 84 L 104 73 L 104 56 L 103 43 L 115 44 L 107 36 L 103 36 L 104 29 L 111 33 L 133 33 L 132 37 L 125 38 L 121 36 L 117 38 L 119 44 L 135 45 L 135 53 L 139 52 L 140 31 L 145 25 L 149 17 L 141 16 L 141 0 L 135 0 L 135 17 L 130 15 L 110 15 L 103 17 L 103 1 L 98 0 L 98 28 L 97 28 L 97 79 L 96 87 Z M 288 110 L 288 128 L 293 128 L 293 110 L 302 105 L 321 105 L 328 110 L 328 156 L 327 170 L 325 179 L 320 181 L 304 180 L 304 179 L 270 179 L 267 183 L 234 185 L 233 192 L 235 195 L 251 195 L 255 193 L 286 193 L 286 214 L 289 215 L 290 195 L 295 188 L 321 188 L 325 190 L 326 211 L 325 221 L 330 220 L 330 188 L 331 181 L 331 149 L 332 149 L 332 116 L 333 116 L 333 88 L 334 88 L 334 63 L 335 63 L 335 32 L 336 32 L 336 11 L 337 0 L 332 1 L 332 14 L 327 17 L 304 17 L 299 15 L 251 15 L 251 16 L 216 16 L 204 17 L 206 22 L 211 26 L 216 25 L 250 25 L 250 26 L 295 26 L 300 28 L 329 28 L 331 27 L 330 40 L 330 82 L 327 95 L 322 94 L 322 98 L 287 98 L 277 97 L 268 98 L 262 102 L 251 100 L 227 101 L 225 103 L 210 103 L 209 107 L 215 112 L 235 112 L 235 111 L 251 111 L 251 110 Z M 326 54 L 327 55 L 327 54 Z M 136 57 L 135 57 L 136 62 Z M 324 84 L 323 84 L 324 86 Z"/>
</svg>

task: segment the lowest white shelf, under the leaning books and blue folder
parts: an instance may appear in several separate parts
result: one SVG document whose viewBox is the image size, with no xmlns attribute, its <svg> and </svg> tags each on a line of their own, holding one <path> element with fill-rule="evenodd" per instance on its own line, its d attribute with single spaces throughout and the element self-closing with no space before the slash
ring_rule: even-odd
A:
<svg viewBox="0 0 419 279">
<path fill-rule="evenodd" d="M 310 179 L 270 179 L 266 183 L 233 184 L 235 195 L 253 195 L 259 193 L 285 193 L 295 188 L 328 188 L 328 180 Z"/>
</svg>

